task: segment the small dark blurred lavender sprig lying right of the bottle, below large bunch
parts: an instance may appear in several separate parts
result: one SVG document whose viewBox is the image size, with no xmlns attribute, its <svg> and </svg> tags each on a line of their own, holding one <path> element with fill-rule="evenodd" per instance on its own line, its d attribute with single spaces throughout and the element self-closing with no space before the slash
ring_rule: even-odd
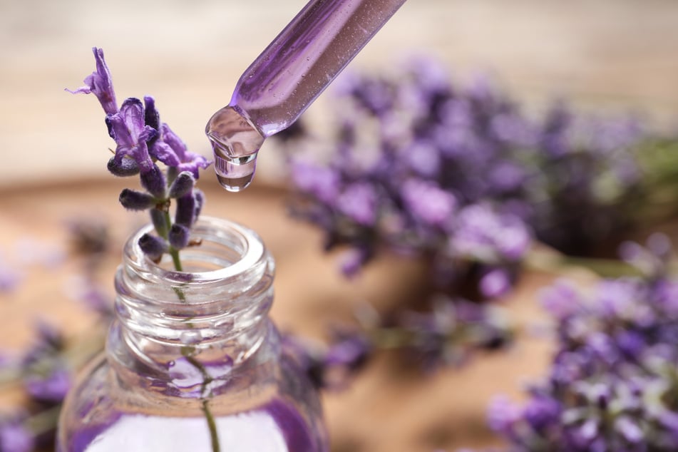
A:
<svg viewBox="0 0 678 452">
<path fill-rule="evenodd" d="M 287 334 L 284 350 L 317 387 L 337 391 L 380 352 L 394 351 L 408 369 L 415 364 L 430 372 L 503 349 L 514 334 L 500 307 L 459 298 L 437 297 L 429 312 L 399 310 L 394 319 L 366 311 L 370 315 L 358 316 L 359 327 L 332 328 L 327 345 Z"/>
</svg>

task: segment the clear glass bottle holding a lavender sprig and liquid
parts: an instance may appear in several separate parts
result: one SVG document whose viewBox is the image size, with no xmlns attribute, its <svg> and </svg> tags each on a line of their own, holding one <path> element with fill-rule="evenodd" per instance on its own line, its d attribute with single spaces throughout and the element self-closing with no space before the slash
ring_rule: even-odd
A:
<svg viewBox="0 0 678 452">
<path fill-rule="evenodd" d="M 255 232 L 202 218 L 184 272 L 123 250 L 105 353 L 61 412 L 57 451 L 325 452 L 318 394 L 268 317 L 274 262 Z"/>
</svg>

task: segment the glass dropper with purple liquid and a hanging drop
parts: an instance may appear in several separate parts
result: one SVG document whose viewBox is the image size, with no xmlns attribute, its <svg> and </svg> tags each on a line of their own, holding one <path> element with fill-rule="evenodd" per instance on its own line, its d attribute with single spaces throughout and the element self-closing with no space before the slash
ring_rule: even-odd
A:
<svg viewBox="0 0 678 452">
<path fill-rule="evenodd" d="M 250 184 L 264 140 L 292 125 L 405 0 L 311 0 L 238 81 L 205 133 L 220 184 Z"/>
</svg>

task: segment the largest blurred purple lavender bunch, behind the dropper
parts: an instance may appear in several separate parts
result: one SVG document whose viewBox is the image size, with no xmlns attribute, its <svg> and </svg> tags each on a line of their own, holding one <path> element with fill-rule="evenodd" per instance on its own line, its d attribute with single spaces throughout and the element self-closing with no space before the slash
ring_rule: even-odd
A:
<svg viewBox="0 0 678 452">
<path fill-rule="evenodd" d="M 292 212 L 328 249 L 351 247 L 349 276 L 385 246 L 428 257 L 439 289 L 472 277 L 493 298 L 534 237 L 577 254 L 628 222 L 641 138 L 630 120 L 577 118 L 562 103 L 529 120 L 486 80 L 454 86 L 426 58 L 337 83 L 334 140 L 302 131 L 286 143 L 328 150 L 325 163 L 292 157 Z"/>
</svg>

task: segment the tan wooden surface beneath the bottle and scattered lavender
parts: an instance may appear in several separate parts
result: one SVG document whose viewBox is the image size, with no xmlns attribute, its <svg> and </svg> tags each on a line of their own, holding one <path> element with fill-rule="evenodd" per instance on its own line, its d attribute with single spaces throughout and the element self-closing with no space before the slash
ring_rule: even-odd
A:
<svg viewBox="0 0 678 452">
<path fill-rule="evenodd" d="M 333 322 L 350 322 L 359 304 L 369 302 L 386 311 L 416 299 L 421 289 L 421 265 L 403 257 L 378 260 L 361 277 L 346 282 L 337 272 L 337 256 L 321 252 L 317 230 L 287 216 L 284 190 L 260 186 L 227 195 L 207 180 L 200 185 L 207 192 L 205 215 L 254 228 L 272 251 L 277 262 L 272 317 L 285 331 L 322 339 Z M 27 243 L 41 244 L 37 248 L 47 252 L 63 250 L 64 225 L 78 218 L 105 220 L 111 241 L 119 245 L 143 220 L 117 205 L 121 188 L 121 181 L 111 178 L 6 190 L 0 196 L 0 255 L 5 262 L 16 262 L 20 250 L 35 252 L 36 247 Z M 17 250 L 17 243 L 24 245 Z M 111 253 L 99 274 L 111 291 L 118 263 L 118 253 Z M 76 261 L 24 263 L 20 268 L 24 281 L 14 292 L 0 294 L 0 349 L 19 350 L 29 344 L 36 317 L 56 324 L 69 337 L 92 324 L 93 315 L 69 295 L 69 284 L 81 274 Z M 518 285 L 506 302 L 516 322 L 540 319 L 536 288 L 551 279 L 530 274 Z M 403 372 L 392 356 L 379 356 L 349 389 L 324 397 L 333 450 L 431 452 L 437 447 L 453 451 L 492 443 L 485 427 L 490 396 L 497 392 L 518 396 L 520 384 L 543 371 L 548 349 L 548 341 L 525 337 L 510 351 L 430 375 Z M 16 394 L 4 394 L 0 401 L 9 406 L 16 402 Z"/>
</svg>

